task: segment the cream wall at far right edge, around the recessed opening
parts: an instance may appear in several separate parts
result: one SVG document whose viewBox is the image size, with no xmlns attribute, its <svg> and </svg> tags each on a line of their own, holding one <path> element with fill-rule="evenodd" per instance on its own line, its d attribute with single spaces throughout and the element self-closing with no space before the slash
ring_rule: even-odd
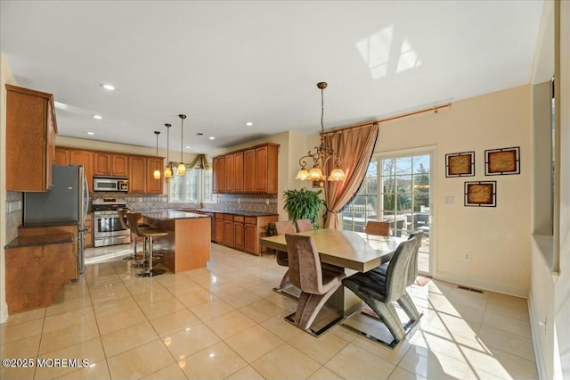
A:
<svg viewBox="0 0 570 380">
<path fill-rule="evenodd" d="M 546 7 L 552 7 L 547 2 Z M 552 12 L 552 10 L 549 10 Z M 559 223 L 555 224 L 557 239 L 549 249 L 558 249 L 558 271 L 551 271 L 550 264 L 544 260 L 543 250 L 548 244 L 533 244 L 532 279 L 529 292 L 533 343 L 537 352 L 537 367 L 542 379 L 570 378 L 570 2 L 560 2 L 560 42 L 556 86 L 560 94 L 557 98 L 557 117 L 559 120 Z M 543 18 L 542 29 L 553 29 L 553 18 Z M 544 44 L 548 44 L 546 36 Z M 539 41 L 542 43 L 542 41 Z M 538 61 L 544 56 L 537 49 Z M 552 54 L 552 53 L 550 53 Z M 548 58 L 547 58 L 548 61 Z M 541 65 L 536 62 L 536 65 Z M 553 71 L 550 63 L 550 72 Z M 539 74 L 534 78 L 541 81 Z M 538 237 L 537 237 L 538 241 Z"/>
</svg>

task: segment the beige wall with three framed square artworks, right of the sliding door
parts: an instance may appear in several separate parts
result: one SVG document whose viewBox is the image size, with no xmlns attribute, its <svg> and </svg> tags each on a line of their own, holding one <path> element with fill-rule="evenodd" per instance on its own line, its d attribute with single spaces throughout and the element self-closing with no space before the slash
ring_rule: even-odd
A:
<svg viewBox="0 0 570 380">
<path fill-rule="evenodd" d="M 435 276 L 526 297 L 530 286 L 530 87 L 454 102 L 452 108 L 380 124 L 377 153 L 436 146 Z M 485 176 L 485 150 L 520 147 L 521 173 Z M 445 154 L 475 152 L 475 177 L 445 178 Z M 466 207 L 464 182 L 497 181 L 497 206 Z M 454 205 L 444 205 L 444 197 Z M 431 234 L 430 234 L 431 235 Z M 471 254 L 470 262 L 463 253 Z"/>
</svg>

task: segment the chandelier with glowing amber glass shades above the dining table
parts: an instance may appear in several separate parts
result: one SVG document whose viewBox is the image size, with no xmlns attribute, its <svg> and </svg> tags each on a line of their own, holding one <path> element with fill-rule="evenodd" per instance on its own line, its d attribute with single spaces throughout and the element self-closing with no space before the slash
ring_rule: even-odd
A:
<svg viewBox="0 0 570 380">
<path fill-rule="evenodd" d="M 335 153 L 332 148 L 324 142 L 324 125 L 322 119 L 324 116 L 324 89 L 327 88 L 327 82 L 317 83 L 317 87 L 321 89 L 321 145 L 315 146 L 315 153 L 308 152 L 305 156 L 299 159 L 299 166 L 301 169 L 297 173 L 295 179 L 300 179 L 302 181 L 309 180 L 313 181 L 314 184 L 319 186 L 324 186 L 324 181 L 344 181 L 346 179 L 346 174 L 343 169 L 340 169 L 340 162 L 342 158 L 338 153 Z M 313 159 L 313 169 L 310 171 L 306 169 L 306 161 Z M 327 161 L 332 161 L 333 168 L 330 175 L 327 177 L 326 165 Z M 324 170 L 324 171 L 323 171 Z"/>
</svg>

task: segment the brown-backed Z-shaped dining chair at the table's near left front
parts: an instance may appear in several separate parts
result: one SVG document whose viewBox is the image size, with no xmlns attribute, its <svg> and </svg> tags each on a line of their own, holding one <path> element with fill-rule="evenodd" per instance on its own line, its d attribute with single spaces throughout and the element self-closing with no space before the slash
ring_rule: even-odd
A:
<svg viewBox="0 0 570 380">
<path fill-rule="evenodd" d="M 342 285 L 344 272 L 323 269 L 313 237 L 285 234 L 289 253 L 289 280 L 301 289 L 295 313 L 285 319 L 312 335 L 322 335 L 344 318 L 342 315 L 318 331 L 311 329 L 325 302 Z"/>
</svg>

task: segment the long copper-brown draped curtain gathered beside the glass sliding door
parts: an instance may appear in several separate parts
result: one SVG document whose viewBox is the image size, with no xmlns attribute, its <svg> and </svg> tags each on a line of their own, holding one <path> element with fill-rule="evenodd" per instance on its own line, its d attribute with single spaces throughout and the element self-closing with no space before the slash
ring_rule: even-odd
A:
<svg viewBox="0 0 570 380">
<path fill-rule="evenodd" d="M 338 212 L 350 202 L 366 175 L 366 170 L 374 153 L 378 139 L 378 123 L 362 128 L 346 128 L 325 133 L 325 144 L 335 153 L 340 154 L 340 167 L 345 170 L 344 181 L 325 181 L 324 198 L 327 212 L 324 219 L 325 228 L 340 229 Z M 327 170 L 330 173 L 330 168 Z"/>
</svg>

